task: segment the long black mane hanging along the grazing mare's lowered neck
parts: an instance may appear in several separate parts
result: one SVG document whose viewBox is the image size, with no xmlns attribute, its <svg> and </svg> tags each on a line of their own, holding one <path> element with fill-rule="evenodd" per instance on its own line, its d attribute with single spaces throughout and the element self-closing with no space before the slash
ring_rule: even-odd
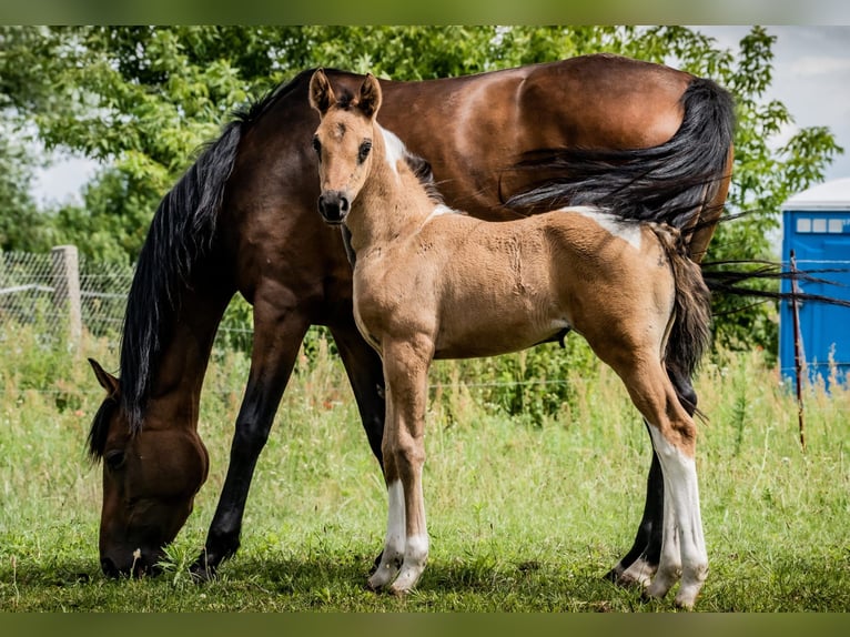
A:
<svg viewBox="0 0 850 637">
<path fill-rule="evenodd" d="M 209 251 L 224 185 L 236 158 L 242 123 L 227 124 L 162 199 L 139 254 L 121 340 L 121 400 L 139 431 L 155 364 L 180 306 L 180 286 Z"/>
</svg>

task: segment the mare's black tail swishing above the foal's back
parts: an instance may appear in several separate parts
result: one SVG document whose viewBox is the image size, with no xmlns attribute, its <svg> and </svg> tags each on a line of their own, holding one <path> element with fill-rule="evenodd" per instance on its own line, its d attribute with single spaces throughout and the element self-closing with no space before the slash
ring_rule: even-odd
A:
<svg viewBox="0 0 850 637">
<path fill-rule="evenodd" d="M 658 146 L 529 153 L 517 170 L 564 176 L 538 182 L 505 204 L 526 212 L 594 204 L 629 219 L 687 226 L 712 199 L 707 189 L 728 176 L 735 105 L 726 90 L 702 78 L 691 81 L 681 102 L 685 115 L 679 130 Z"/>
</svg>

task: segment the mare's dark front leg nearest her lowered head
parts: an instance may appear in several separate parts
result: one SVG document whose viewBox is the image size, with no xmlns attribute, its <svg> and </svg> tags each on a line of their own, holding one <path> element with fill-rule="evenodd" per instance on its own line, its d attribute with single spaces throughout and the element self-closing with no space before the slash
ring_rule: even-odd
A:
<svg viewBox="0 0 850 637">
<path fill-rule="evenodd" d="M 239 548 L 247 492 L 269 438 L 281 396 L 290 380 L 310 321 L 297 309 L 281 313 L 274 304 L 254 303 L 254 345 L 245 396 L 236 417 L 230 464 L 204 550 L 191 566 L 206 579 Z"/>
</svg>

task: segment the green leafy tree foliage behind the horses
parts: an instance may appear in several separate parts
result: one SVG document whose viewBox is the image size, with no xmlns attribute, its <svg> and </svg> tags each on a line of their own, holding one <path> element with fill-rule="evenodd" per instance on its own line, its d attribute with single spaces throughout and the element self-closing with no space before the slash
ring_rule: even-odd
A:
<svg viewBox="0 0 850 637">
<path fill-rule="evenodd" d="M 159 199 L 231 111 L 316 65 L 419 80 L 608 51 L 712 78 L 737 100 L 729 203 L 748 214 L 721 224 L 710 260 L 776 259 L 769 236 L 779 205 L 822 179 L 842 152 L 826 128 L 770 145 L 793 119 L 783 104 L 763 99 L 775 38 L 761 28 L 736 51 L 684 27 L 4 27 L 0 42 L 0 111 L 34 122 L 48 148 L 103 165 L 82 205 L 41 215 L 52 239 L 78 243 L 93 257 L 134 260 Z M 12 154 L 0 145 L 2 165 Z M 8 174 L 21 186 L 18 194 L 26 192 L 27 175 Z M 21 200 L 12 209 L 31 211 L 28 205 Z M 33 236 L 27 228 L 8 234 L 4 245 L 38 243 L 43 226 L 32 224 Z M 719 324 L 731 343 L 755 338 L 772 347 L 773 315 L 762 305 Z"/>
</svg>

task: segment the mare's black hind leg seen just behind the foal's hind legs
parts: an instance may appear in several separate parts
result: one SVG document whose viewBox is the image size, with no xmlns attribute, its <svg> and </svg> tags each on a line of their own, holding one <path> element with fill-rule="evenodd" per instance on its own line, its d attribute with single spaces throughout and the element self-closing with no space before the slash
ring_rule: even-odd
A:
<svg viewBox="0 0 850 637">
<path fill-rule="evenodd" d="M 667 373 L 676 390 L 679 404 L 694 416 L 697 407 L 697 393 L 686 374 L 668 367 Z M 649 425 L 645 422 L 647 432 Z M 658 560 L 661 556 L 661 536 L 664 527 L 664 476 L 658 454 L 652 448 L 652 462 L 649 466 L 649 476 L 646 486 L 646 503 L 644 514 L 638 525 L 635 543 L 629 552 L 606 573 L 605 577 L 621 585 L 642 584 L 648 585 L 652 575 L 658 569 Z"/>
</svg>

